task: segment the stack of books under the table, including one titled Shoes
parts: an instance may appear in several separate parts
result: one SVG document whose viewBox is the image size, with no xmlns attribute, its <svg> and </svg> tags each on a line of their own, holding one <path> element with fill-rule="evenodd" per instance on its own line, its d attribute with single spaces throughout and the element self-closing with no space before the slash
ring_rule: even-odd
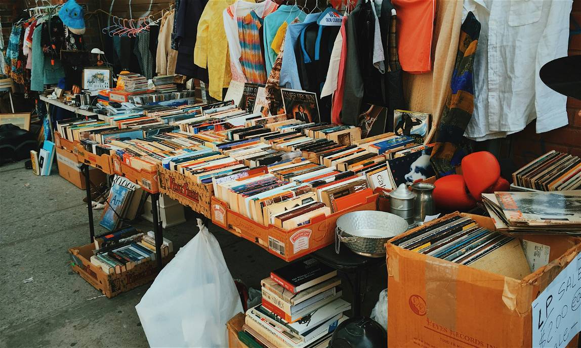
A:
<svg viewBox="0 0 581 348">
<path fill-rule="evenodd" d="M 263 279 L 262 303 L 246 311 L 245 335 L 266 347 L 328 347 L 351 304 L 341 299 L 337 271 L 304 259 Z"/>
</svg>

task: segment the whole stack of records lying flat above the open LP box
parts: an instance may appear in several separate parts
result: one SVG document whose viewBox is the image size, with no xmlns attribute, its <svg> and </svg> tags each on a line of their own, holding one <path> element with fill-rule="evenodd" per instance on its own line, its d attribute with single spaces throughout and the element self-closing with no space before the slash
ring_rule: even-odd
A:
<svg viewBox="0 0 581 348">
<path fill-rule="evenodd" d="M 482 193 L 498 231 L 581 234 L 581 191 Z"/>
</svg>

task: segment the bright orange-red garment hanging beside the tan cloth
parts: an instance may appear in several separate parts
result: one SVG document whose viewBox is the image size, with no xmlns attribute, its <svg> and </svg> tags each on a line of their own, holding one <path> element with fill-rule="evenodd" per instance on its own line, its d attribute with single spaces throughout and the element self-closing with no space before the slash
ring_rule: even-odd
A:
<svg viewBox="0 0 581 348">
<path fill-rule="evenodd" d="M 397 16 L 397 53 L 401 70 L 432 70 L 432 36 L 436 0 L 392 0 Z"/>
</svg>

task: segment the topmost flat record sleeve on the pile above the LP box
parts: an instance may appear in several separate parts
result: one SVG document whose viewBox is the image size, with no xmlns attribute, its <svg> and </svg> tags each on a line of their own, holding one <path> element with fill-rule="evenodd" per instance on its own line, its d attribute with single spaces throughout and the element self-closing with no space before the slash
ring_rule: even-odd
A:
<svg viewBox="0 0 581 348">
<path fill-rule="evenodd" d="M 510 223 L 581 224 L 581 191 L 495 192 Z"/>
</svg>

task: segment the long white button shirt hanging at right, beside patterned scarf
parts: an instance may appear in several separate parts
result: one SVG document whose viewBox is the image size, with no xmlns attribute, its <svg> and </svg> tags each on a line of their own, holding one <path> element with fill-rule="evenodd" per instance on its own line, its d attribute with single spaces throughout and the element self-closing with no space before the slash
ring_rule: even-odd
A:
<svg viewBox="0 0 581 348">
<path fill-rule="evenodd" d="M 480 21 L 474 60 L 474 114 L 465 136 L 506 137 L 536 119 L 536 132 L 568 124 L 566 96 L 539 70 L 567 55 L 572 0 L 464 0 L 463 19 Z"/>
</svg>

